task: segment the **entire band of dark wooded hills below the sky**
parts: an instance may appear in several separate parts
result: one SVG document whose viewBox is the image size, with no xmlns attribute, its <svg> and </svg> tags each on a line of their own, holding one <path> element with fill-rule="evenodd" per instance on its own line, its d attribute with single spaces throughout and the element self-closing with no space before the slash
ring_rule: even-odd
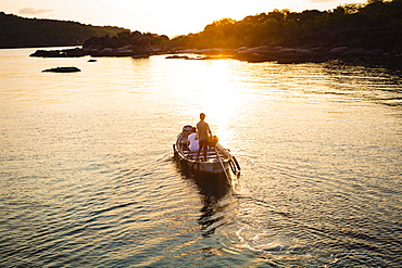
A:
<svg viewBox="0 0 402 268">
<path fill-rule="evenodd" d="M 368 0 L 331 11 L 274 10 L 241 21 L 222 18 L 203 31 L 178 36 L 141 34 L 118 27 L 23 18 L 0 12 L 0 48 L 75 46 L 133 50 L 238 49 L 281 46 L 366 48 L 402 52 L 402 0 Z"/>
</svg>

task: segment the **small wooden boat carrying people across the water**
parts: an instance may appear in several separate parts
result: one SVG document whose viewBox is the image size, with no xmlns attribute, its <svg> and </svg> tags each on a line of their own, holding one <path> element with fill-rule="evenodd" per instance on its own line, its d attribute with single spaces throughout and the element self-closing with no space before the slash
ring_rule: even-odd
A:
<svg viewBox="0 0 402 268">
<path fill-rule="evenodd" d="M 225 174 L 230 170 L 238 175 L 240 165 L 236 157 L 230 154 L 228 149 L 223 148 L 218 142 L 209 146 L 206 161 L 204 161 L 203 151 L 197 158 L 198 152 L 190 152 L 188 149 L 188 136 L 191 133 L 192 126 L 184 126 L 183 131 L 177 136 L 176 143 L 173 144 L 175 158 L 179 159 L 184 167 L 192 175 L 199 173 L 205 174 Z"/>
</svg>

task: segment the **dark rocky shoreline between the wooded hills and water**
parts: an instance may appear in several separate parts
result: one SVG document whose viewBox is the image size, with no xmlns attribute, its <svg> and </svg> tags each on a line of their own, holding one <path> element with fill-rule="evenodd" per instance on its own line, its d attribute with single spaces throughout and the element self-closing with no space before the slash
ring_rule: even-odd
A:
<svg viewBox="0 0 402 268">
<path fill-rule="evenodd" d="M 198 58 L 190 58 L 183 54 L 198 54 Z M 167 59 L 185 60 L 217 60 L 233 59 L 250 63 L 277 62 L 278 64 L 300 64 L 300 63 L 324 63 L 338 60 L 349 64 L 376 65 L 390 68 L 402 69 L 402 54 L 381 49 L 365 48 L 287 48 L 287 47 L 242 47 L 239 49 L 153 49 L 122 47 L 104 48 L 101 50 L 73 48 L 61 50 L 37 50 L 29 56 L 38 58 L 80 58 L 80 56 L 131 56 L 148 58 L 151 55 L 171 55 Z M 173 56 L 172 56 L 173 55 Z M 183 55 L 183 56 L 180 56 Z M 202 56 L 201 56 L 202 55 Z"/>
</svg>

